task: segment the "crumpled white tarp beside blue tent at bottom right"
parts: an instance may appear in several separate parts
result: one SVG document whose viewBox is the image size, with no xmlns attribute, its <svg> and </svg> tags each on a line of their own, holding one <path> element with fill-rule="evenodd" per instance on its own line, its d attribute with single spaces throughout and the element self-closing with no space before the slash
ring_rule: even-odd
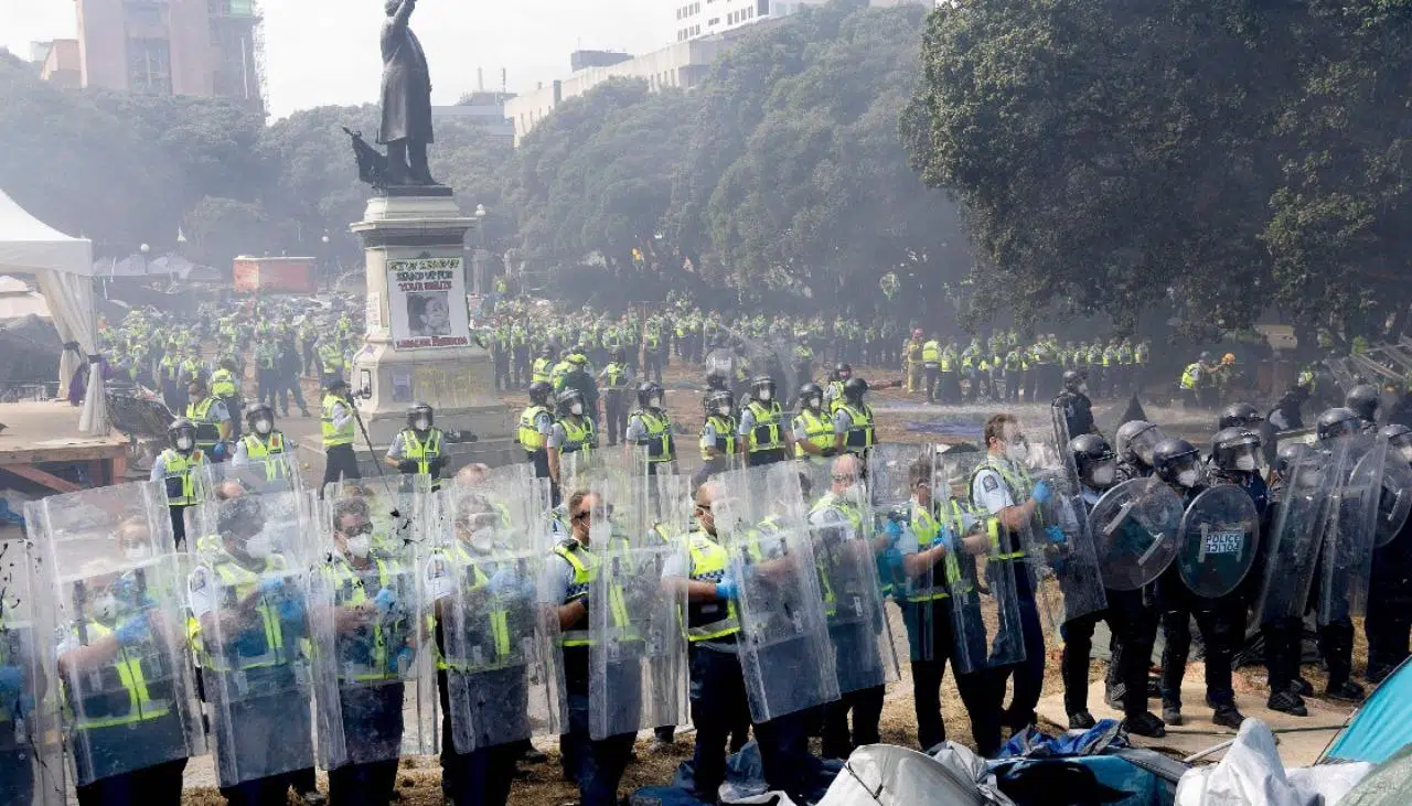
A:
<svg viewBox="0 0 1412 806">
<path fill-rule="evenodd" d="M 1220 764 L 1187 771 L 1176 786 L 1178 806 L 1333 806 L 1372 765 L 1363 761 L 1285 769 L 1275 734 L 1247 718 Z"/>
</svg>

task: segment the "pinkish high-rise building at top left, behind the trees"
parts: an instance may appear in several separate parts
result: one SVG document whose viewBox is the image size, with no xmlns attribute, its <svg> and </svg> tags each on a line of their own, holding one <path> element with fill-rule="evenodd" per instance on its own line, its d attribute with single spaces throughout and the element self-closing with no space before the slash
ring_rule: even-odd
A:
<svg viewBox="0 0 1412 806">
<path fill-rule="evenodd" d="M 82 86 L 264 109 L 256 0 L 76 0 Z"/>
</svg>

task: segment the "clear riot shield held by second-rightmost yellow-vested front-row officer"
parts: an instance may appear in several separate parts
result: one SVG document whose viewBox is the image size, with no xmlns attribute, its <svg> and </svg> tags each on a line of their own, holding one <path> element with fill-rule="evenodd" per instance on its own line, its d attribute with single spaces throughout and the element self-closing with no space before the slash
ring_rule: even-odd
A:
<svg viewBox="0 0 1412 806">
<path fill-rule="evenodd" d="M 1003 529 L 991 535 L 990 514 L 976 511 L 970 500 L 971 479 L 984 453 L 945 452 L 938 455 L 940 473 L 952 501 L 942 503 L 943 511 L 959 514 L 956 562 L 959 573 L 949 580 L 952 590 L 952 631 L 955 645 L 952 662 L 962 673 L 993 666 L 1018 663 L 1025 659 L 1025 641 L 1019 618 L 1017 569 L 1028 573 L 1024 563 L 1008 555 L 1018 549 L 1014 538 Z M 983 538 L 973 541 L 966 538 Z M 984 551 L 970 553 L 963 545 L 980 545 Z"/>
</svg>

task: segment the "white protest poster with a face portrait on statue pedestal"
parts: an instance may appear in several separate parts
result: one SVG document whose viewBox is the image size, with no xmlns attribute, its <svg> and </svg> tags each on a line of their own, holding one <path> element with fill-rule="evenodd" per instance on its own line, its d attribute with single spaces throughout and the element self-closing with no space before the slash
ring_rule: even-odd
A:
<svg viewBox="0 0 1412 806">
<path fill-rule="evenodd" d="M 388 260 L 387 308 L 397 350 L 470 344 L 466 272 L 459 257 Z"/>
</svg>

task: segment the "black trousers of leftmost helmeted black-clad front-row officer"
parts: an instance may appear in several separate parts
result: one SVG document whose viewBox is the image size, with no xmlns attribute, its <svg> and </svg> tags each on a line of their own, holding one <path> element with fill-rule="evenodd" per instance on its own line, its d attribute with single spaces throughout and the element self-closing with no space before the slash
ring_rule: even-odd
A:
<svg viewBox="0 0 1412 806">
<path fill-rule="evenodd" d="M 1156 611 L 1142 601 L 1141 590 L 1106 589 L 1107 610 L 1072 618 L 1059 628 L 1063 637 L 1063 656 L 1059 662 L 1063 673 L 1065 711 L 1076 714 L 1089 710 L 1089 656 L 1093 652 L 1093 628 L 1099 621 L 1107 621 L 1108 630 L 1123 652 L 1115 652 L 1110 661 L 1111 679 L 1121 682 L 1123 716 L 1134 718 L 1147 713 L 1147 672 L 1152 658 L 1152 638 Z"/>
</svg>

